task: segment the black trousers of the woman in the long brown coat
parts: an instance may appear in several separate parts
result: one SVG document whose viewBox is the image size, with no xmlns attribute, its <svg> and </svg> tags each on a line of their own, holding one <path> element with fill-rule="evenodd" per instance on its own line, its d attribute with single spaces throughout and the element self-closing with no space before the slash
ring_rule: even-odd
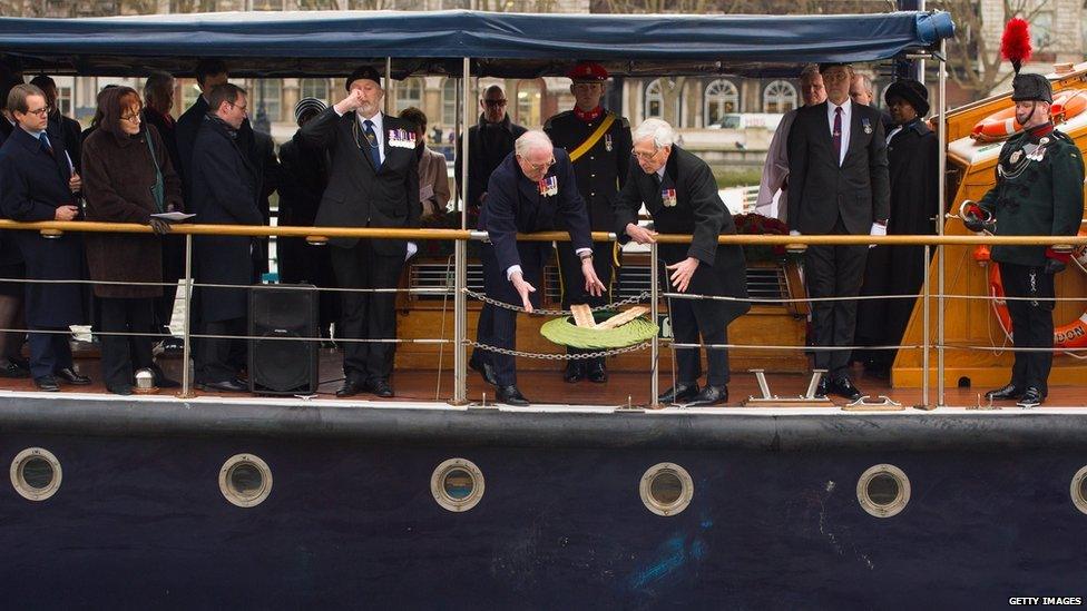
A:
<svg viewBox="0 0 1087 611">
<path fill-rule="evenodd" d="M 154 298 L 101 297 L 101 329 L 105 333 L 140 333 L 143 336 L 102 335 L 102 380 L 106 387 L 131 386 L 137 369 L 154 371 L 151 334 L 155 328 Z"/>
</svg>

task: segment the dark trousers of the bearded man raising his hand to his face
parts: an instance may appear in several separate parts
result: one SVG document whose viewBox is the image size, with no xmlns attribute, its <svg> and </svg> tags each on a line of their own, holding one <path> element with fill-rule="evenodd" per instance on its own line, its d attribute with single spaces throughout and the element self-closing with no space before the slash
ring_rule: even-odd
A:
<svg viewBox="0 0 1087 611">
<path fill-rule="evenodd" d="M 360 239 L 352 248 L 331 247 L 332 268 L 341 288 L 396 288 L 404 257 L 380 255 L 373 242 Z M 407 255 L 407 252 L 404 253 Z M 395 293 L 341 293 L 341 324 L 336 336 L 345 339 L 395 339 Z M 392 374 L 396 344 L 344 342 L 343 375 L 364 383 Z"/>
</svg>

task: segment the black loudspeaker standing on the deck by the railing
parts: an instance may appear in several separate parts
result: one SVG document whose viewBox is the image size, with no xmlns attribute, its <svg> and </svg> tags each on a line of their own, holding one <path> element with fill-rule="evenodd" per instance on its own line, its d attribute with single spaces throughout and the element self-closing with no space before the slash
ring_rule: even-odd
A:
<svg viewBox="0 0 1087 611">
<path fill-rule="evenodd" d="M 286 288 L 290 286 L 291 288 Z M 249 392 L 264 395 L 315 394 L 317 289 L 312 285 L 249 289 Z"/>
</svg>

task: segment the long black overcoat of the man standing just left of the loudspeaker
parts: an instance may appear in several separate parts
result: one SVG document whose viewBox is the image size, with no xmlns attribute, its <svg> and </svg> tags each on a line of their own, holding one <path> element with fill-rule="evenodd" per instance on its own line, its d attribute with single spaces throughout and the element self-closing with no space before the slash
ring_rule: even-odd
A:
<svg viewBox="0 0 1087 611">
<path fill-rule="evenodd" d="M 249 159 L 226 126 L 204 120 L 193 145 L 192 211 L 197 223 L 263 225 L 257 206 L 259 180 Z M 193 239 L 199 283 L 249 285 L 255 278 L 254 239 L 245 236 L 196 236 Z M 247 312 L 244 288 L 202 290 L 200 314 L 206 323 L 241 318 Z"/>
</svg>

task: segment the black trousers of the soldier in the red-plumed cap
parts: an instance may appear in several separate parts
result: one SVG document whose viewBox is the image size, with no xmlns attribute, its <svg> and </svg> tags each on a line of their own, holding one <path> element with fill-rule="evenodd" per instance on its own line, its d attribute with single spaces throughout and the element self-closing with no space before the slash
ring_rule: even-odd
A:
<svg viewBox="0 0 1087 611">
<path fill-rule="evenodd" d="M 1008 299 L 1011 331 L 1017 348 L 1052 348 L 1054 275 L 1041 266 L 1000 263 L 1000 279 L 1008 297 L 1029 297 L 1030 300 Z M 1049 369 L 1052 352 L 1017 352 L 1011 367 L 1011 383 L 1020 388 L 1034 386 L 1044 395 L 1049 393 Z"/>
</svg>

